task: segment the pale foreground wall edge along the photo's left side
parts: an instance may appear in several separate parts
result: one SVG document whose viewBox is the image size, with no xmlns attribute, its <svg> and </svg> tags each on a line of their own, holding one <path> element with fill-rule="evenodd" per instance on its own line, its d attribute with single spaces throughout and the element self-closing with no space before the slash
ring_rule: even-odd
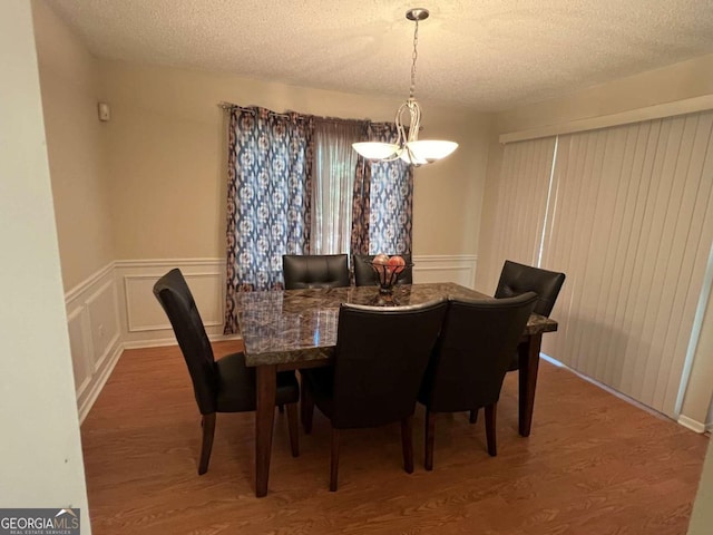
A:
<svg viewBox="0 0 713 535">
<path fill-rule="evenodd" d="M 2 507 L 80 507 L 79 424 L 30 4 L 0 2 Z"/>
</svg>

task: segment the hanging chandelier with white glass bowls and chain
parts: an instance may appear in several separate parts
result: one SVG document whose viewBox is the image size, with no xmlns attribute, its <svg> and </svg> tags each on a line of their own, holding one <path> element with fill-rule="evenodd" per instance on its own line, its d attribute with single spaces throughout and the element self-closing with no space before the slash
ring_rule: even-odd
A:
<svg viewBox="0 0 713 535">
<path fill-rule="evenodd" d="M 436 139 L 419 139 L 421 128 L 421 107 L 413 96 L 416 93 L 416 60 L 418 58 L 417 46 L 419 42 L 419 21 L 428 19 L 428 9 L 414 8 L 406 12 L 406 18 L 416 22 L 413 30 L 413 54 L 411 56 L 411 88 L 409 98 L 399 106 L 394 119 L 397 127 L 395 143 L 364 142 L 354 143 L 352 147 L 367 159 L 377 162 L 393 162 L 401 158 L 412 165 L 430 164 L 450 155 L 458 144 Z M 404 118 L 408 116 L 408 129 Z"/>
</svg>

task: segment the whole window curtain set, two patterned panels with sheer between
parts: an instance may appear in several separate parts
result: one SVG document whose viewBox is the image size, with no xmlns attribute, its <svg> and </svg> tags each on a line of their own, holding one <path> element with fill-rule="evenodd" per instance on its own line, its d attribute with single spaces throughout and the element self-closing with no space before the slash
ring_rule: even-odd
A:
<svg viewBox="0 0 713 535">
<path fill-rule="evenodd" d="M 351 149 L 355 140 L 395 142 L 394 125 L 229 109 L 225 334 L 238 331 L 236 292 L 283 288 L 283 254 L 341 252 L 348 239 L 352 254 L 411 254 L 411 166 L 370 163 Z M 330 133 L 330 121 L 349 128 Z M 313 200 L 319 204 L 314 225 Z M 350 204 L 351 235 L 349 224 L 339 226 L 348 221 Z M 319 233 L 314 251 L 311 231 Z M 330 243 L 329 235 L 340 233 L 339 245 Z"/>
</svg>

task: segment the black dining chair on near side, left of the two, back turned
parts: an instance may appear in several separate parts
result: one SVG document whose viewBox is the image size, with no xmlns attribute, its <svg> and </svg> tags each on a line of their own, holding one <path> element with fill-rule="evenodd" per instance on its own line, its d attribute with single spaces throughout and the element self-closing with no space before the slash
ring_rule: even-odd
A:
<svg viewBox="0 0 713 535">
<path fill-rule="evenodd" d="M 411 307 L 342 304 L 334 366 L 301 370 L 303 425 L 314 405 L 330 419 L 330 490 L 336 490 L 340 431 L 401 422 L 403 467 L 413 471 L 416 397 L 441 329 L 445 300 Z"/>
</svg>

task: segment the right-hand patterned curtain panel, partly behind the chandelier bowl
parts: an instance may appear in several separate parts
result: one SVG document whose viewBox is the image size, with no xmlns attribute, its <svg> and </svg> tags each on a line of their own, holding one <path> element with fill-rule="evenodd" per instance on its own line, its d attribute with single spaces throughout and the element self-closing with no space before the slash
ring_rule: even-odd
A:
<svg viewBox="0 0 713 535">
<path fill-rule="evenodd" d="M 394 143 L 393 124 L 372 123 L 369 139 Z M 413 230 L 413 168 L 401 159 L 372 162 L 368 207 L 368 254 L 411 254 Z"/>
</svg>

